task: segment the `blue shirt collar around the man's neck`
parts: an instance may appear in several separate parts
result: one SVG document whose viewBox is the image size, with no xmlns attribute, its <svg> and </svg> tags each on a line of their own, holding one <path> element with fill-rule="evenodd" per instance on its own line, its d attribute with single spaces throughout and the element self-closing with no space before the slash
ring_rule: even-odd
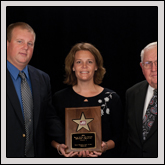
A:
<svg viewBox="0 0 165 165">
<path fill-rule="evenodd" d="M 13 76 L 13 78 L 16 80 L 18 78 L 19 70 L 11 64 L 9 61 L 7 61 L 7 69 L 9 70 L 10 74 Z M 29 79 L 29 72 L 28 72 L 28 66 L 26 66 L 22 72 L 25 73 L 26 77 Z"/>
</svg>

